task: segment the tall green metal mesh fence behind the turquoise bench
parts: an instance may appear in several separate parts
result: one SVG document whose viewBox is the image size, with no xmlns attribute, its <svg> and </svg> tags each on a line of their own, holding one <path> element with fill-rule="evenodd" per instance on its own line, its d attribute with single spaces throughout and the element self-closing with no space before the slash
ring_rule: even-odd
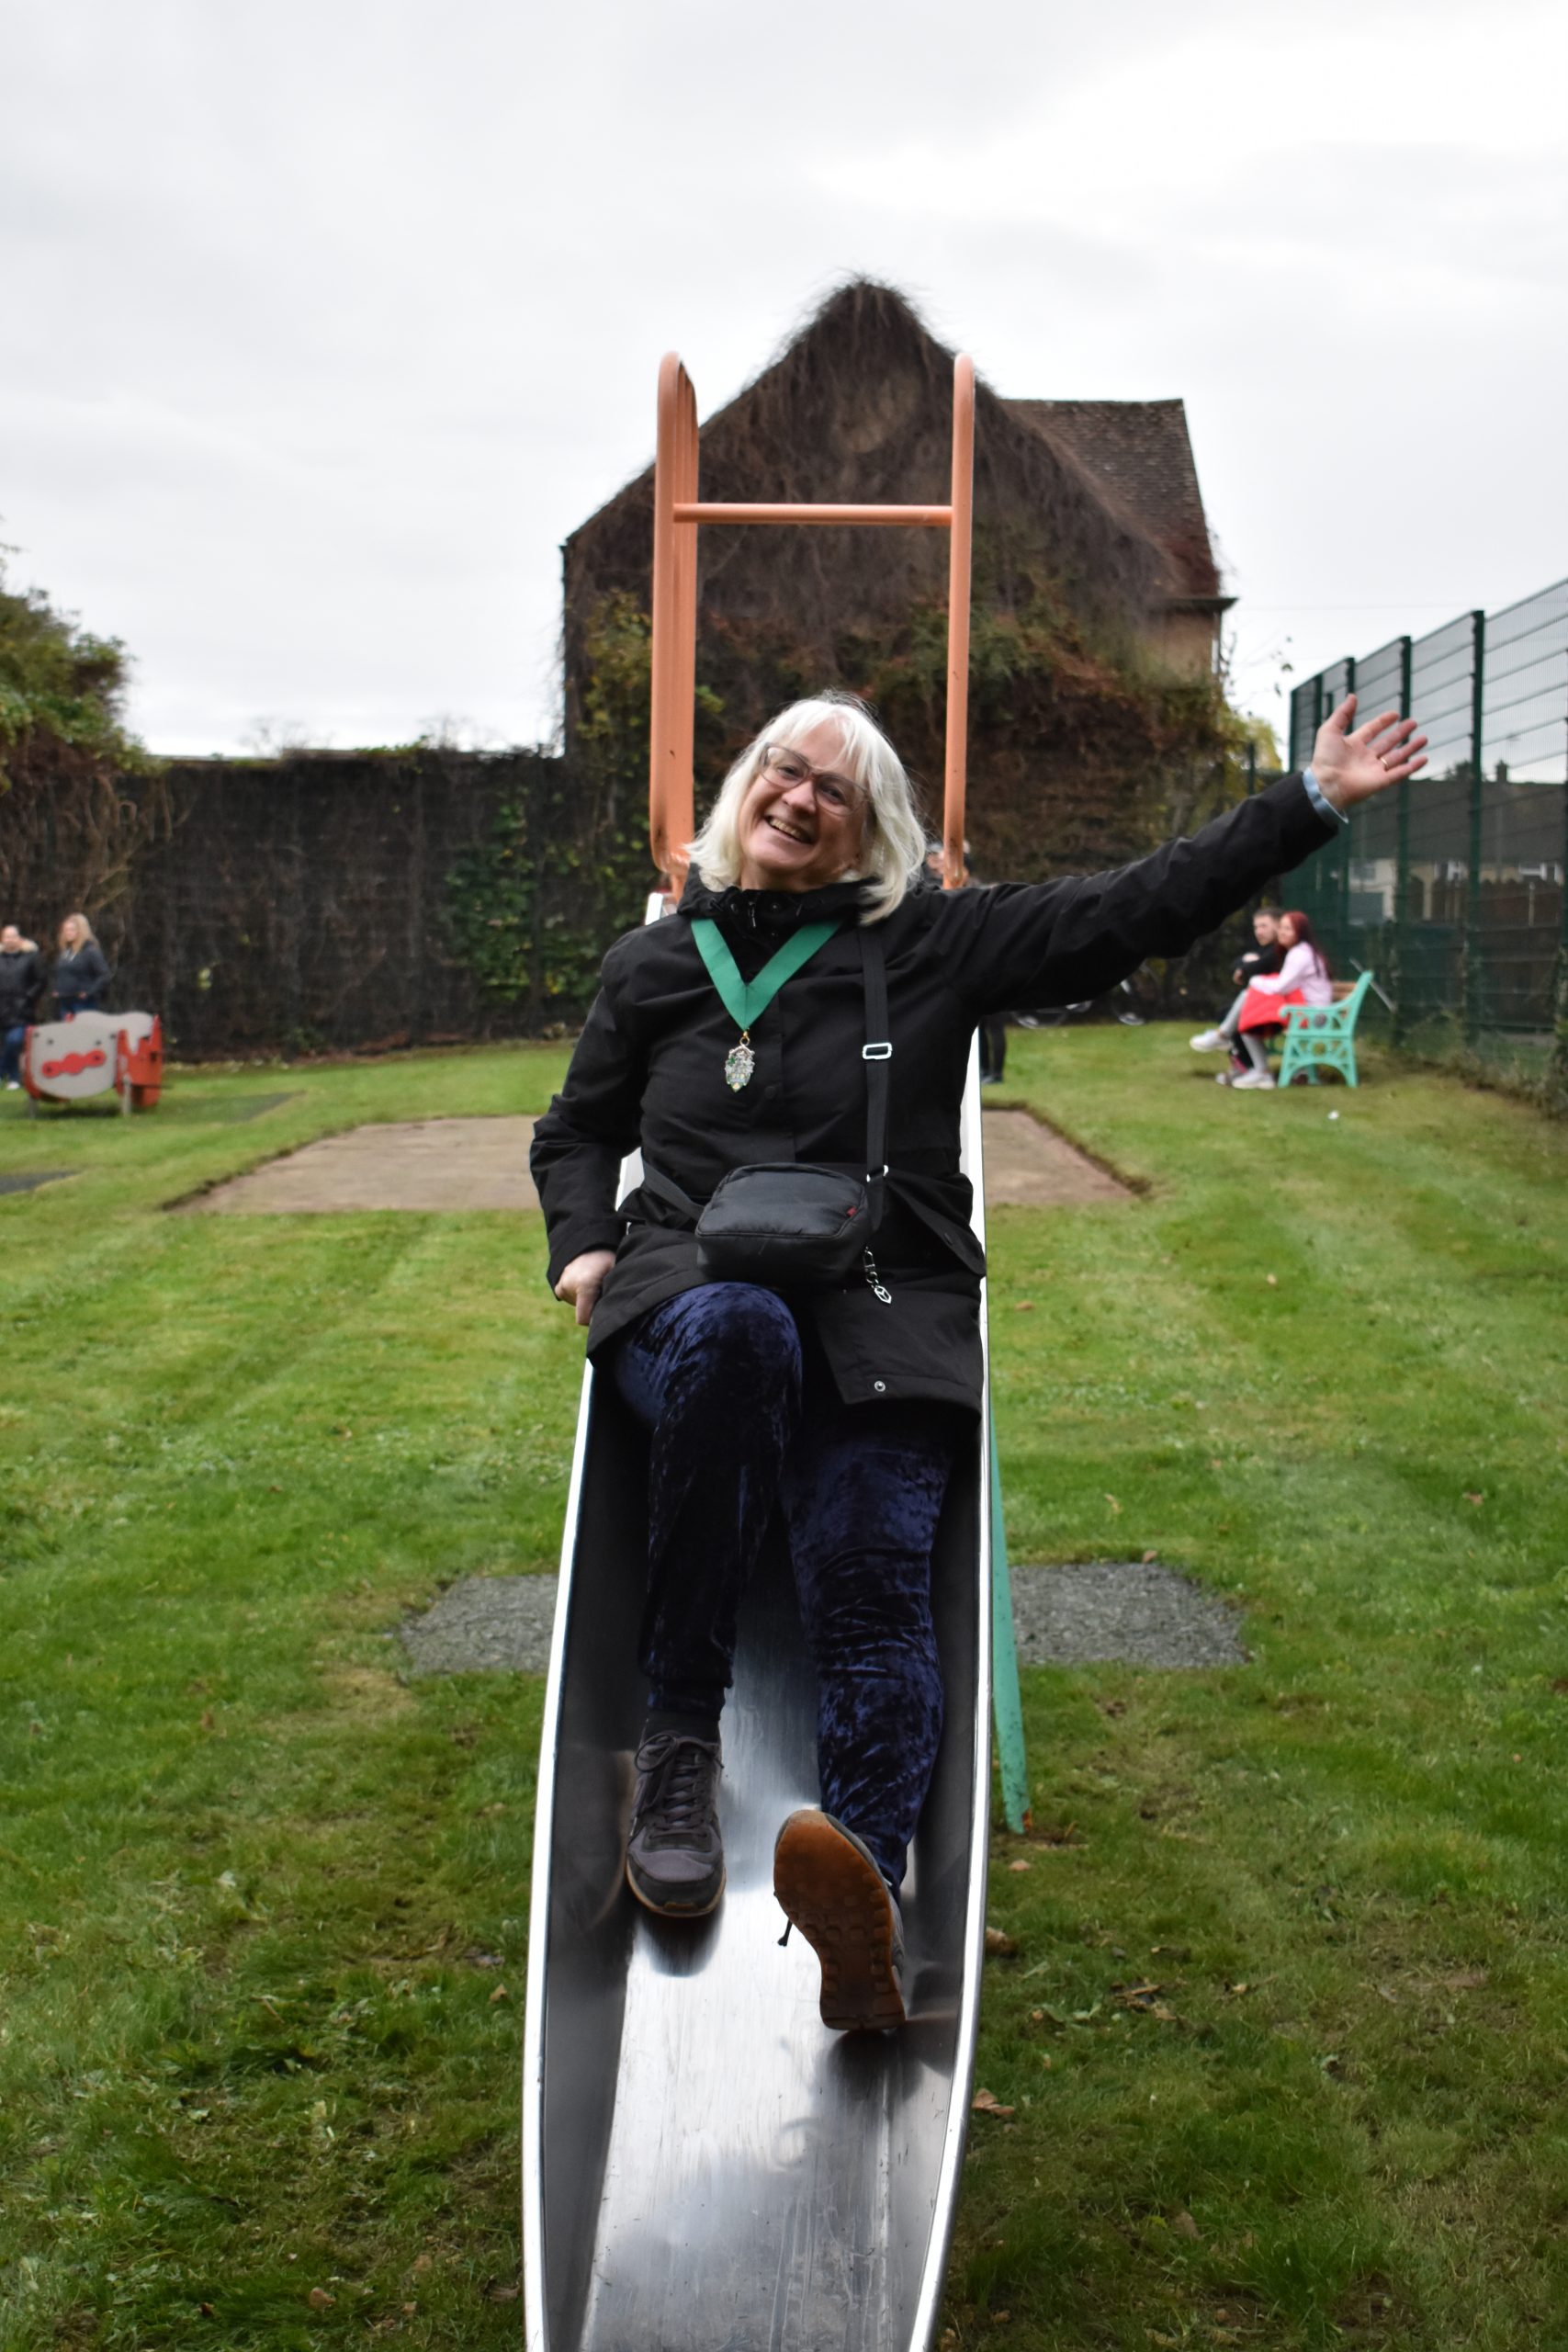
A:
<svg viewBox="0 0 1568 2352">
<path fill-rule="evenodd" d="M 1427 769 L 1359 809 L 1288 884 L 1394 1037 L 1544 1070 L 1568 976 L 1568 581 L 1335 661 L 1291 696 L 1291 767 L 1354 691 L 1415 715 Z"/>
</svg>

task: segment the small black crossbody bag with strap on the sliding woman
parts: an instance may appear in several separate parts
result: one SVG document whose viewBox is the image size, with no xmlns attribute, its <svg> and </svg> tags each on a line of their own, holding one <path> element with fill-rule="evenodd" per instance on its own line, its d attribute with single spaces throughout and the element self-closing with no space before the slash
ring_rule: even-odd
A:
<svg viewBox="0 0 1568 2352">
<path fill-rule="evenodd" d="M 766 1282 L 778 1289 L 825 1289 L 867 1261 L 886 1185 L 889 1063 L 886 960 L 875 924 L 860 924 L 865 976 L 865 1176 L 811 1160 L 764 1160 L 731 1169 L 712 1200 L 698 1204 L 672 1176 L 642 1162 L 644 1190 L 696 1230 L 705 1282 Z M 867 1265 L 875 1279 L 875 1265 Z M 879 1291 L 882 1296 L 882 1291 Z"/>
</svg>

